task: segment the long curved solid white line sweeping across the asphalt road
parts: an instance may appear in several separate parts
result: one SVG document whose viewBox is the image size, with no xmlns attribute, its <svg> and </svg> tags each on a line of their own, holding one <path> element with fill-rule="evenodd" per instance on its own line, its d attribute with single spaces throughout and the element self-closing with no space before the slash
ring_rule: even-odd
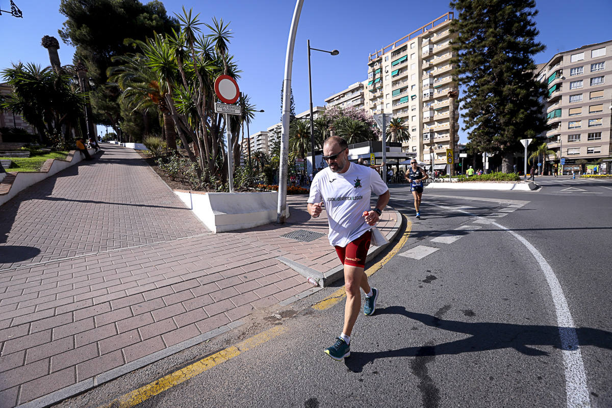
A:
<svg viewBox="0 0 612 408">
<path fill-rule="evenodd" d="M 431 205 L 442 207 L 433 203 Z M 455 209 L 450 208 L 450 210 Z M 457 211 L 466 213 L 472 217 L 478 217 L 477 215 L 471 214 L 467 211 Z M 535 261 L 537 261 L 537 263 L 540 265 L 540 269 L 544 273 L 547 280 L 548 287 L 550 287 L 554 310 L 557 314 L 557 326 L 559 328 L 559 338 L 561 338 L 561 354 L 563 356 L 563 363 L 565 366 L 565 392 L 567 394 L 567 407 L 591 407 L 589 388 L 586 384 L 586 373 L 584 372 L 584 363 L 582 360 L 582 353 L 580 352 L 580 344 L 578 343 L 576 326 L 573 322 L 572 313 L 570 313 L 569 306 L 567 305 L 567 299 L 565 299 L 563 289 L 559 283 L 559 280 L 557 279 L 557 276 L 554 274 L 553 269 L 550 267 L 542 254 L 535 249 L 535 247 L 531 245 L 528 240 L 517 234 L 517 232 L 514 232 L 494 221 L 490 221 L 488 223 L 503 229 L 515 237 L 529 250 L 529 252 L 531 252 L 535 258 Z"/>
</svg>

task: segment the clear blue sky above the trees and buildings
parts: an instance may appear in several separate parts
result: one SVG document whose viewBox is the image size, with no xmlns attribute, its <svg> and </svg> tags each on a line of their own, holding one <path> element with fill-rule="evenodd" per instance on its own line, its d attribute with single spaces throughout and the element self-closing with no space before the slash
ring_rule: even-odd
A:
<svg viewBox="0 0 612 408">
<path fill-rule="evenodd" d="M 17 61 L 49 65 L 47 50 L 40 45 L 43 35 L 58 38 L 62 64 L 72 63 L 74 50 L 62 43 L 58 35 L 65 21 L 58 12 L 59 0 L 13 1 L 23 12 L 23 19 L 6 13 L 0 16 L 0 68 Z M 257 114 L 250 131 L 266 130 L 280 121 L 280 87 L 295 2 L 163 0 L 163 4 L 169 14 L 179 13 L 181 6 L 185 6 L 200 13 L 203 22 L 209 23 L 212 17 L 230 21 L 234 34 L 230 52 L 243 71 L 239 86 L 258 109 L 265 109 L 265 113 Z M 9 0 L 0 0 L 0 9 L 9 8 Z M 536 63 L 547 62 L 559 51 L 612 39 L 610 0 L 540 0 L 537 9 L 538 40 L 547 50 L 535 57 Z M 368 53 L 448 11 L 449 2 L 444 0 L 305 0 L 293 62 L 296 112 L 308 109 L 307 39 L 315 48 L 340 50 L 338 56 L 316 51 L 312 54 L 313 103 L 324 105 L 324 98 L 366 78 Z M 461 143 L 465 143 L 463 130 L 460 136 Z"/>
</svg>

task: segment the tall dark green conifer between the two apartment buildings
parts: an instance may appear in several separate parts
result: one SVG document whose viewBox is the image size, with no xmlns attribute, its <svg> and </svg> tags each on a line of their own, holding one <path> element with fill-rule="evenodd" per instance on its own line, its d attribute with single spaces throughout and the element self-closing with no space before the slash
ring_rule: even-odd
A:
<svg viewBox="0 0 612 408">
<path fill-rule="evenodd" d="M 453 61 L 467 92 L 460 98 L 468 139 L 482 152 L 500 154 L 502 171 L 512 171 L 519 140 L 547 130 L 543 115 L 546 87 L 536 80 L 534 0 L 453 0 L 458 12 Z"/>
</svg>

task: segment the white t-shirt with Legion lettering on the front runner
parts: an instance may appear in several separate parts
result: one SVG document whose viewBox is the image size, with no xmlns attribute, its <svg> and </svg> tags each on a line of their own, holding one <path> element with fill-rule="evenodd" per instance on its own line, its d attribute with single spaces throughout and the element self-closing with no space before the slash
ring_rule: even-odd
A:
<svg viewBox="0 0 612 408">
<path fill-rule="evenodd" d="M 312 180 L 308 202 L 324 202 L 329 221 L 329 243 L 346 247 L 371 228 L 363 213 L 371 209 L 372 191 L 379 196 L 388 190 L 374 169 L 351 163 L 343 173 L 332 172 L 329 167 L 319 171 Z"/>
</svg>

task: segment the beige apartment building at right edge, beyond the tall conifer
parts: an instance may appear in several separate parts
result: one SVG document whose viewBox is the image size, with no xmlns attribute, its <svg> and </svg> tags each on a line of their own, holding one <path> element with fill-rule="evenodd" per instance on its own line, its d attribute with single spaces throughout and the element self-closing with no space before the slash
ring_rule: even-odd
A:
<svg viewBox="0 0 612 408">
<path fill-rule="evenodd" d="M 612 40 L 558 53 L 538 75 L 548 86 L 545 106 L 552 128 L 546 133 L 547 145 L 565 159 L 562 171 L 586 171 L 610 157 Z M 580 159 L 586 166 L 577 163 Z"/>
</svg>

